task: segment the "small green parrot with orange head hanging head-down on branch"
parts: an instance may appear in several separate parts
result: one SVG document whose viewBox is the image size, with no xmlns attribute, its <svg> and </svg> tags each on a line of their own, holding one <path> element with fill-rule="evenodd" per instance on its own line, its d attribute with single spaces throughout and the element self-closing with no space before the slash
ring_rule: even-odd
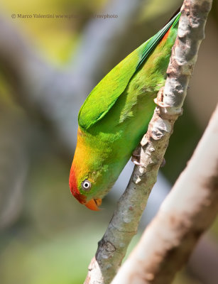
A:
<svg viewBox="0 0 218 284">
<path fill-rule="evenodd" d="M 89 209 L 99 210 L 148 129 L 179 18 L 180 12 L 116 65 L 80 109 L 69 184 L 72 195 Z"/>
</svg>

